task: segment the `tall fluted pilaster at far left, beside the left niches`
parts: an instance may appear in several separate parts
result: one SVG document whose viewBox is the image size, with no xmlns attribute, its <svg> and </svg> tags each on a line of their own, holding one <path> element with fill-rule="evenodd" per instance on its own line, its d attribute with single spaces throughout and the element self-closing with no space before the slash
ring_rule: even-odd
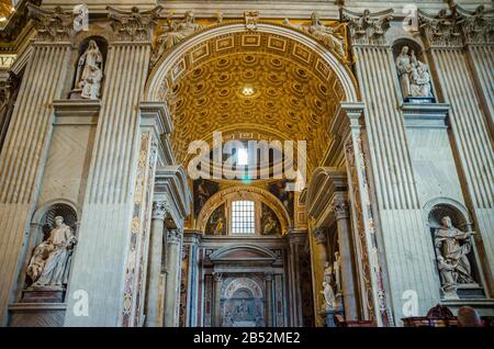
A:
<svg viewBox="0 0 494 349">
<path fill-rule="evenodd" d="M 48 22 L 52 15 L 56 14 L 46 11 L 38 16 Z M 19 258 L 23 256 L 46 164 L 53 101 L 61 98 L 70 65 L 72 31 L 65 30 L 64 34 L 61 31 L 46 32 L 44 37 L 38 34 L 33 42 L 0 154 L 0 325 L 7 324 Z"/>
</svg>

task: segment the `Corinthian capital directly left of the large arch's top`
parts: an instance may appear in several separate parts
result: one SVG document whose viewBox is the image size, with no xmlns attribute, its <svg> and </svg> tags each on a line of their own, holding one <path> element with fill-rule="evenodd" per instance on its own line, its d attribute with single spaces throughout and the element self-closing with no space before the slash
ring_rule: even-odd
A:
<svg viewBox="0 0 494 349">
<path fill-rule="evenodd" d="M 106 10 L 117 40 L 146 41 L 150 38 L 150 32 L 158 23 L 161 7 L 156 7 L 149 11 L 139 11 L 136 7 L 133 7 L 131 11 L 112 7 L 106 7 Z"/>
</svg>

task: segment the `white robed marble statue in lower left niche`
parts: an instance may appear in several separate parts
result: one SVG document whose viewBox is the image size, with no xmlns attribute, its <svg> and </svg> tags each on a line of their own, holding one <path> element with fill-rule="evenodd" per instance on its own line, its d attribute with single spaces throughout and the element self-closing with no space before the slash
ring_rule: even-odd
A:
<svg viewBox="0 0 494 349">
<path fill-rule="evenodd" d="M 27 275 L 33 281 L 32 286 L 61 288 L 67 284 L 70 256 L 77 238 L 64 217 L 55 217 L 55 227 L 48 238 L 34 249 L 27 266 Z"/>
</svg>

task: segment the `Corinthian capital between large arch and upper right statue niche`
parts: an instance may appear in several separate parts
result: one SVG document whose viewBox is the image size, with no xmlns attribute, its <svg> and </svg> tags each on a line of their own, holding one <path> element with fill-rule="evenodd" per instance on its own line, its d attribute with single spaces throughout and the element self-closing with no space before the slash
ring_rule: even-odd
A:
<svg viewBox="0 0 494 349">
<path fill-rule="evenodd" d="M 347 9 L 341 10 L 341 20 L 348 22 L 353 44 L 383 44 L 384 34 L 393 19 L 393 10 L 371 13 L 364 10 L 357 13 Z"/>
</svg>

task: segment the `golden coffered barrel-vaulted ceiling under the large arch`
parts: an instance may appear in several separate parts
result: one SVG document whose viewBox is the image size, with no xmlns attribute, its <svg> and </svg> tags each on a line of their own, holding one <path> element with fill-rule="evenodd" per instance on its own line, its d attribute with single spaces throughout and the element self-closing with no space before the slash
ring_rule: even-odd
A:
<svg viewBox="0 0 494 349">
<path fill-rule="evenodd" d="M 245 95 L 243 89 L 254 89 Z M 340 81 L 306 46 L 270 33 L 235 33 L 191 48 L 162 86 L 179 164 L 195 139 L 306 140 L 307 169 L 326 151 L 328 126 L 345 99 Z"/>
</svg>

